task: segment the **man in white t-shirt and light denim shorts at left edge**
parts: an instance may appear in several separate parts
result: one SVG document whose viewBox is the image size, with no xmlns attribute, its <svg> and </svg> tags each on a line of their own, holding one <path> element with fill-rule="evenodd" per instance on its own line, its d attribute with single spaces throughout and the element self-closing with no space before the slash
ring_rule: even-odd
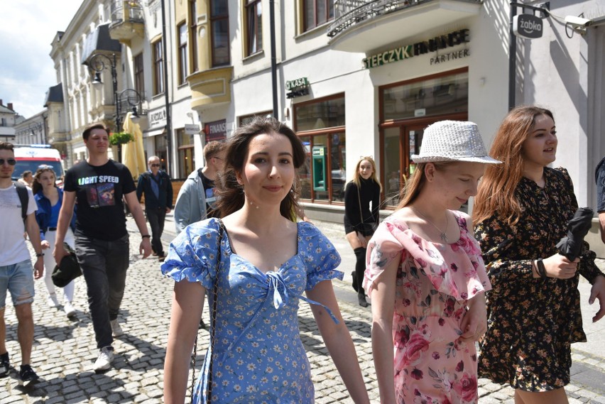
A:
<svg viewBox="0 0 605 404">
<path fill-rule="evenodd" d="M 40 278 L 44 273 L 42 247 L 40 246 L 40 229 L 36 222 L 36 200 L 33 199 L 31 188 L 28 192 L 26 219 L 23 221 L 21 200 L 18 197 L 12 175 L 15 170 L 15 153 L 11 143 L 0 143 L 0 378 L 9 376 L 11 364 L 9 352 L 6 351 L 6 324 L 4 309 L 6 293 L 11 292 L 18 320 L 17 339 L 21 346 L 21 368 L 18 381 L 21 386 L 27 386 L 38 380 L 38 375 L 30 365 L 31 348 L 33 344 L 33 302 L 34 278 Z M 21 185 L 22 186 L 22 185 Z M 31 258 L 23 239 L 23 230 L 27 231 L 33 249 L 36 251 L 36 263 L 31 266 Z"/>
</svg>

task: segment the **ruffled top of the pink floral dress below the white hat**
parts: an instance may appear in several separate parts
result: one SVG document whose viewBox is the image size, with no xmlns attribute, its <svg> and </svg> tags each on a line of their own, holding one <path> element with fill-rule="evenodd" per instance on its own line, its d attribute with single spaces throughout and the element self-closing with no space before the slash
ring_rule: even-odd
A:
<svg viewBox="0 0 605 404">
<path fill-rule="evenodd" d="M 410 271 L 426 275 L 432 288 L 457 300 L 491 289 L 479 244 L 469 235 L 464 219 L 457 219 L 461 231 L 454 244 L 433 244 L 404 222 L 385 219 L 369 243 L 364 288 L 371 293 L 376 278 L 400 252 L 401 261 L 408 261 Z"/>
</svg>

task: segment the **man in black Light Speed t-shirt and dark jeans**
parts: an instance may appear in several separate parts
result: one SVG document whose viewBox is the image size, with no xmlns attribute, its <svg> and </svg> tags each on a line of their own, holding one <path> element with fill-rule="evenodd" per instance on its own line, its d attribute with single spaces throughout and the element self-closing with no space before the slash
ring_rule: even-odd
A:
<svg viewBox="0 0 605 404">
<path fill-rule="evenodd" d="M 102 124 L 93 124 L 85 129 L 82 137 L 89 157 L 65 174 L 53 255 L 57 263 L 67 255 L 63 239 L 77 200 L 75 251 L 87 285 L 92 327 L 99 348 L 94 371 L 99 372 L 111 367 L 113 337 L 123 334 L 117 317 L 126 286 L 130 244 L 122 198 L 141 231 L 143 241 L 139 251 L 143 258 L 151 254 L 151 243 L 130 170 L 109 160 L 109 131 Z"/>
</svg>

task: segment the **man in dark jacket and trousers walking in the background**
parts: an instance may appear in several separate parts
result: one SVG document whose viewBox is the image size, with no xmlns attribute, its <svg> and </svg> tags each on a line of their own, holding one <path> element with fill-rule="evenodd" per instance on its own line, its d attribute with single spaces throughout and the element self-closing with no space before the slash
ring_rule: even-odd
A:
<svg viewBox="0 0 605 404">
<path fill-rule="evenodd" d="M 149 170 L 138 177 L 136 197 L 141 202 L 145 195 L 145 213 L 151 226 L 151 248 L 160 262 L 164 261 L 162 233 L 166 214 L 173 209 L 173 185 L 170 176 L 160 170 L 160 158 L 152 155 L 147 160 Z"/>
</svg>

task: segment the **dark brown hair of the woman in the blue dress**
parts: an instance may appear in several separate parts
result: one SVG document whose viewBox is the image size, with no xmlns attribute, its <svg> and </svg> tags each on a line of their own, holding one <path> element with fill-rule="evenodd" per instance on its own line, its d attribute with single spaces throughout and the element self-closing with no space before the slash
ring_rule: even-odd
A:
<svg viewBox="0 0 605 404">
<path fill-rule="evenodd" d="M 219 173 L 217 190 L 219 195 L 218 208 L 221 217 L 226 217 L 244 206 L 244 188 L 238 184 L 236 173 L 241 173 L 244 170 L 252 138 L 263 133 L 280 133 L 287 137 L 292 144 L 294 168 L 298 169 L 305 163 L 305 146 L 302 146 L 300 138 L 287 125 L 273 118 L 257 116 L 249 124 L 241 126 L 235 131 L 234 136 L 229 139 L 224 172 Z M 295 175 L 293 192 L 288 192 L 288 195 L 280 204 L 280 213 L 287 219 L 291 219 L 292 212 L 295 212 L 294 209 L 298 208 L 298 183 L 298 175 Z"/>
</svg>

